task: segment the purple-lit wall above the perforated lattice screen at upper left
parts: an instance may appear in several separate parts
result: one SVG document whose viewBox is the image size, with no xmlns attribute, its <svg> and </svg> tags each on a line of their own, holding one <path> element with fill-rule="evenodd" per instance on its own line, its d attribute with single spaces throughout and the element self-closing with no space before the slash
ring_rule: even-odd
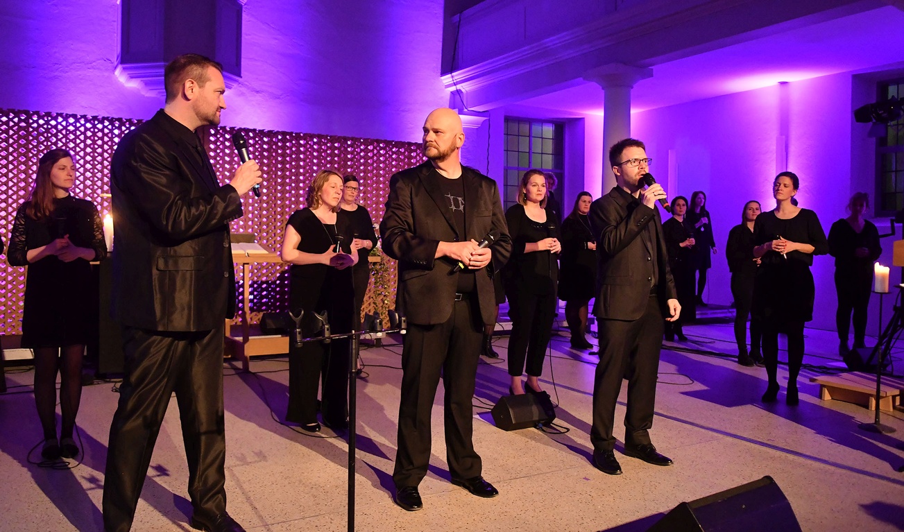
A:
<svg viewBox="0 0 904 532">
<path fill-rule="evenodd" d="M 0 108 L 152 116 L 162 98 L 113 74 L 118 16 L 114 0 L 0 3 Z M 442 23 L 439 2 L 250 0 L 223 125 L 419 140 L 448 101 Z"/>
</svg>

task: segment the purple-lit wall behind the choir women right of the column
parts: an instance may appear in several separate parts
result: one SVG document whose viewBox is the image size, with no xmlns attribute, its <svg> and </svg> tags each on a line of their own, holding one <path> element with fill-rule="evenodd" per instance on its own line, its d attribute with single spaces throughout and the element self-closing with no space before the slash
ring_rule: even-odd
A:
<svg viewBox="0 0 904 532">
<path fill-rule="evenodd" d="M 647 153 L 655 159 L 653 173 L 663 176 L 659 181 L 669 173 L 669 151 L 673 150 L 677 191 L 669 195 L 707 192 L 719 254 L 712 258 L 705 300 L 730 303 L 730 273 L 724 257 L 728 231 L 740 223 L 745 201 L 758 200 L 763 210 L 775 207 L 770 185 L 778 171 L 787 169 L 800 176 L 797 199 L 802 207 L 815 210 L 826 234 L 833 221 L 847 215 L 844 207 L 853 191 L 872 195 L 871 163 L 864 162 L 858 170 L 861 175 L 852 180 L 852 145 L 866 152 L 870 148 L 862 146 L 873 145 L 865 135 L 852 135 L 859 131 L 852 108 L 848 73 L 633 115 L 633 135 L 647 143 Z M 786 168 L 779 167 L 785 156 L 782 136 L 786 137 Z M 888 227 L 884 220 L 877 220 L 877 225 L 880 232 Z M 882 246 L 883 258 L 890 263 L 890 239 L 883 239 Z M 815 258 L 811 325 L 820 329 L 834 329 L 833 272 L 833 257 Z M 878 298 L 874 297 L 868 333 L 876 331 L 877 320 Z"/>
</svg>

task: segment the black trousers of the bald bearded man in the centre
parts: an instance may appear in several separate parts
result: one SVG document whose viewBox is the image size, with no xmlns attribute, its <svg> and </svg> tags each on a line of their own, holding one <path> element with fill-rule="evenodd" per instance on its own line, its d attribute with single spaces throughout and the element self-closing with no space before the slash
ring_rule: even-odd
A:
<svg viewBox="0 0 904 532">
<path fill-rule="evenodd" d="M 440 375 L 445 388 L 443 421 L 446 460 L 453 478 L 470 479 L 482 470 L 472 434 L 477 362 L 484 324 L 476 295 L 457 301 L 452 315 L 437 325 L 410 324 L 401 355 L 399 450 L 392 481 L 417 486 L 430 462 L 430 413 Z"/>
</svg>

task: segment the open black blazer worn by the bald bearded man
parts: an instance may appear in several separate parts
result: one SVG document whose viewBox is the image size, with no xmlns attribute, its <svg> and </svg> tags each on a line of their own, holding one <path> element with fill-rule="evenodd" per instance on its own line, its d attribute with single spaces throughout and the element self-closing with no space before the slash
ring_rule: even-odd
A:
<svg viewBox="0 0 904 532">
<path fill-rule="evenodd" d="M 496 308 L 493 274 L 512 252 L 499 189 L 492 179 L 462 167 L 466 234 L 459 235 L 436 176 L 430 176 L 431 169 L 427 161 L 394 174 L 390 180 L 380 234 L 383 253 L 399 261 L 396 310 L 412 323 L 446 322 L 452 315 L 458 275 L 450 274 L 455 261 L 448 257 L 434 259 L 439 242 L 471 238 L 479 242 L 493 229 L 499 233 L 492 247 L 493 261 L 475 274 L 480 313 L 484 323 L 490 325 Z"/>
</svg>

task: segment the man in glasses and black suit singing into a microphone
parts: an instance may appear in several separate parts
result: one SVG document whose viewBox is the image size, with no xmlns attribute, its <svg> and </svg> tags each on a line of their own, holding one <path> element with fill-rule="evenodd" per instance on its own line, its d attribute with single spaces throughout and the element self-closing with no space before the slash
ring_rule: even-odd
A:
<svg viewBox="0 0 904 532">
<path fill-rule="evenodd" d="M 656 452 L 647 431 L 653 426 L 656 374 L 664 322 L 678 319 L 672 273 L 665 252 L 656 201 L 665 199 L 658 183 L 644 189 L 641 176 L 650 160 L 644 143 L 626 138 L 609 150 L 617 186 L 590 205 L 597 237 L 597 318 L 599 364 L 593 386 L 593 464 L 621 474 L 612 435 L 622 378 L 628 379 L 625 454 L 655 465 L 672 465 Z"/>
</svg>

